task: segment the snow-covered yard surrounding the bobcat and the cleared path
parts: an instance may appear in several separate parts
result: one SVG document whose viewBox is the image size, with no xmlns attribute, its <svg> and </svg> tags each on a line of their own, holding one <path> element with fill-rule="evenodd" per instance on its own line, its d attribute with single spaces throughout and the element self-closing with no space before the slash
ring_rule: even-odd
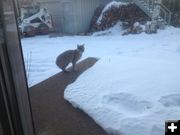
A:
<svg viewBox="0 0 180 135">
<path fill-rule="evenodd" d="M 83 59 L 100 59 L 67 87 L 65 99 L 113 135 L 163 135 L 165 120 L 180 118 L 180 29 L 121 33 L 116 25 L 92 36 L 22 39 L 29 85 L 60 72 L 57 55 L 84 43 Z"/>
</svg>

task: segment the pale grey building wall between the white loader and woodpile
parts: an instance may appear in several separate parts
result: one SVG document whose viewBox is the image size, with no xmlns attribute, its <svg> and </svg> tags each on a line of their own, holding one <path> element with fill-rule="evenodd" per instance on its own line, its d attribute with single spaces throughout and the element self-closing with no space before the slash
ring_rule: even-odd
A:
<svg viewBox="0 0 180 135">
<path fill-rule="evenodd" d="M 46 7 L 54 20 L 54 31 L 78 34 L 87 32 L 98 6 L 111 0 L 34 0 Z"/>
</svg>

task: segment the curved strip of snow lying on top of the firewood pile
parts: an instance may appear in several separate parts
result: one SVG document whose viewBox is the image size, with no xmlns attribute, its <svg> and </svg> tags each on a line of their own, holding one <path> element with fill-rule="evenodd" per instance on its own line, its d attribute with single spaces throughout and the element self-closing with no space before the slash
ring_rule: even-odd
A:
<svg viewBox="0 0 180 135">
<path fill-rule="evenodd" d="M 99 16 L 99 18 L 97 19 L 97 24 L 100 24 L 101 23 L 101 20 L 102 20 L 102 17 L 103 17 L 103 14 L 104 12 L 106 12 L 107 10 L 109 10 L 111 7 L 117 7 L 119 8 L 120 6 L 122 5 L 127 5 L 129 3 L 126 3 L 126 2 L 120 2 L 120 1 L 111 1 L 110 3 L 108 3 L 104 9 L 102 10 L 101 12 L 101 15 Z"/>
</svg>

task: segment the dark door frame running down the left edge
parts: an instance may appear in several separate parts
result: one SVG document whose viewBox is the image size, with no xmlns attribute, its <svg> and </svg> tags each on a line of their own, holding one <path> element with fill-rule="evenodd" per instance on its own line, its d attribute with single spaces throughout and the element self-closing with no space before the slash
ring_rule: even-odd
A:
<svg viewBox="0 0 180 135">
<path fill-rule="evenodd" d="M 7 135 L 35 135 L 16 8 L 0 1 L 0 120 Z"/>
</svg>

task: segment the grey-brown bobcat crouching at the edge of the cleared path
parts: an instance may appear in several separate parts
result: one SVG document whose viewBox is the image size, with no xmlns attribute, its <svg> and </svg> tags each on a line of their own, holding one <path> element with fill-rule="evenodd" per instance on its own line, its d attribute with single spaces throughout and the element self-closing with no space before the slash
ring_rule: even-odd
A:
<svg viewBox="0 0 180 135">
<path fill-rule="evenodd" d="M 73 71 L 75 71 L 76 62 L 81 58 L 84 49 L 84 44 L 77 45 L 77 49 L 67 50 L 61 53 L 56 59 L 56 65 L 61 68 L 63 72 L 68 72 L 66 67 L 69 63 L 72 63 Z"/>
</svg>

